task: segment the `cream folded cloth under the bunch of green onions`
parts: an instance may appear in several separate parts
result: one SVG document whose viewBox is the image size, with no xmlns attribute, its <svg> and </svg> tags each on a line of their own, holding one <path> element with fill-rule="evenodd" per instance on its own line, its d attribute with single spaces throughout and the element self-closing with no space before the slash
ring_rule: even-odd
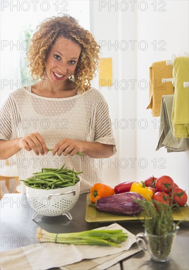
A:
<svg viewBox="0 0 189 270">
<path fill-rule="evenodd" d="M 98 229 L 117 230 L 122 229 L 128 234 L 125 242 L 121 243 L 121 247 L 100 246 L 100 245 L 73 245 L 58 243 L 38 243 L 25 247 L 19 247 L 0 253 L 0 269 L 1 270 L 47 270 L 55 267 L 65 267 L 68 269 L 104 269 L 100 265 L 110 267 L 119 260 L 127 258 L 141 249 L 138 246 L 130 247 L 136 242 L 136 236 L 127 231 L 117 223 L 113 223 L 107 227 Z M 110 257 L 109 257 L 110 256 Z M 105 257 L 103 261 L 102 258 Z M 98 259 L 99 263 L 98 263 Z M 106 262 L 110 258 L 110 261 Z M 85 261 L 87 259 L 87 264 Z M 81 262 L 82 267 L 74 268 L 74 264 Z M 91 264 L 91 265 L 90 265 Z M 99 266 L 99 268 L 98 268 Z M 70 267 L 70 268 L 69 268 Z M 72 267 L 72 268 L 71 268 Z M 64 268 L 62 268 L 64 269 Z M 67 268 L 65 268 L 67 269 Z"/>
</svg>

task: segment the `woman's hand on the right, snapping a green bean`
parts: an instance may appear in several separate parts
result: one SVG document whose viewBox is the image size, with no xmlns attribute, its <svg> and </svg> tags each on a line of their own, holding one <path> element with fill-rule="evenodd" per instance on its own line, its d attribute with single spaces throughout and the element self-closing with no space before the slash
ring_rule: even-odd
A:
<svg viewBox="0 0 189 270">
<path fill-rule="evenodd" d="M 77 152 L 83 153 L 85 150 L 86 146 L 84 142 L 64 138 L 54 146 L 54 148 L 52 149 L 52 156 L 54 156 L 56 153 L 58 156 L 61 156 L 62 153 L 64 156 L 73 156 Z"/>
</svg>

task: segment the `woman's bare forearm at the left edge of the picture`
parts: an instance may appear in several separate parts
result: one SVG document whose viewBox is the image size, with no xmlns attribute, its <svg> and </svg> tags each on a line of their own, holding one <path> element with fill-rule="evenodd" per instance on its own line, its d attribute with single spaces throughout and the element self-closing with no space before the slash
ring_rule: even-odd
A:
<svg viewBox="0 0 189 270">
<path fill-rule="evenodd" d="M 5 160 L 21 150 L 19 146 L 20 138 L 16 138 L 13 140 L 0 140 L 0 160 Z"/>
</svg>

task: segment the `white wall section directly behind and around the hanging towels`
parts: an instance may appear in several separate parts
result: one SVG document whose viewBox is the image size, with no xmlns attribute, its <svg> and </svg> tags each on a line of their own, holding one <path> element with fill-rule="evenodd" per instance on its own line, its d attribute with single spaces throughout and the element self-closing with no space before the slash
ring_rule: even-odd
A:
<svg viewBox="0 0 189 270">
<path fill-rule="evenodd" d="M 189 1 L 171 0 L 165 3 L 166 11 L 163 12 L 152 12 L 150 9 L 145 12 L 137 11 L 138 40 L 147 40 L 149 44 L 149 49 L 146 51 L 137 51 L 138 80 L 148 80 L 148 67 L 152 62 L 171 59 L 172 54 L 183 56 L 185 52 L 189 52 Z M 157 42 L 157 50 L 154 50 L 150 44 L 154 40 Z M 159 46 L 163 44 L 158 45 L 160 40 L 164 40 L 165 51 L 160 50 Z M 156 177 L 169 175 L 181 188 L 187 189 L 189 194 L 189 151 L 167 153 L 165 147 L 155 151 L 160 117 L 152 117 L 151 110 L 145 109 L 147 105 L 148 89 L 138 90 L 137 118 L 146 119 L 148 127 L 137 129 L 137 157 L 138 159 L 146 158 L 148 166 L 145 169 L 137 168 L 137 179 L 141 181 L 152 174 Z M 157 123 L 156 127 L 155 123 Z"/>
</svg>

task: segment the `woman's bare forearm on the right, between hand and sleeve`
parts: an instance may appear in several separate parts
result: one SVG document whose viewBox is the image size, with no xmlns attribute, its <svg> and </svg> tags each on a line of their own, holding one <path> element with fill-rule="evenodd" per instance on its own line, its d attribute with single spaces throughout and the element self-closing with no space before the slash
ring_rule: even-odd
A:
<svg viewBox="0 0 189 270">
<path fill-rule="evenodd" d="M 94 159 L 109 158 L 113 154 L 114 146 L 111 144 L 103 144 L 99 142 L 85 141 L 85 149 L 83 154 L 88 155 Z"/>
</svg>

